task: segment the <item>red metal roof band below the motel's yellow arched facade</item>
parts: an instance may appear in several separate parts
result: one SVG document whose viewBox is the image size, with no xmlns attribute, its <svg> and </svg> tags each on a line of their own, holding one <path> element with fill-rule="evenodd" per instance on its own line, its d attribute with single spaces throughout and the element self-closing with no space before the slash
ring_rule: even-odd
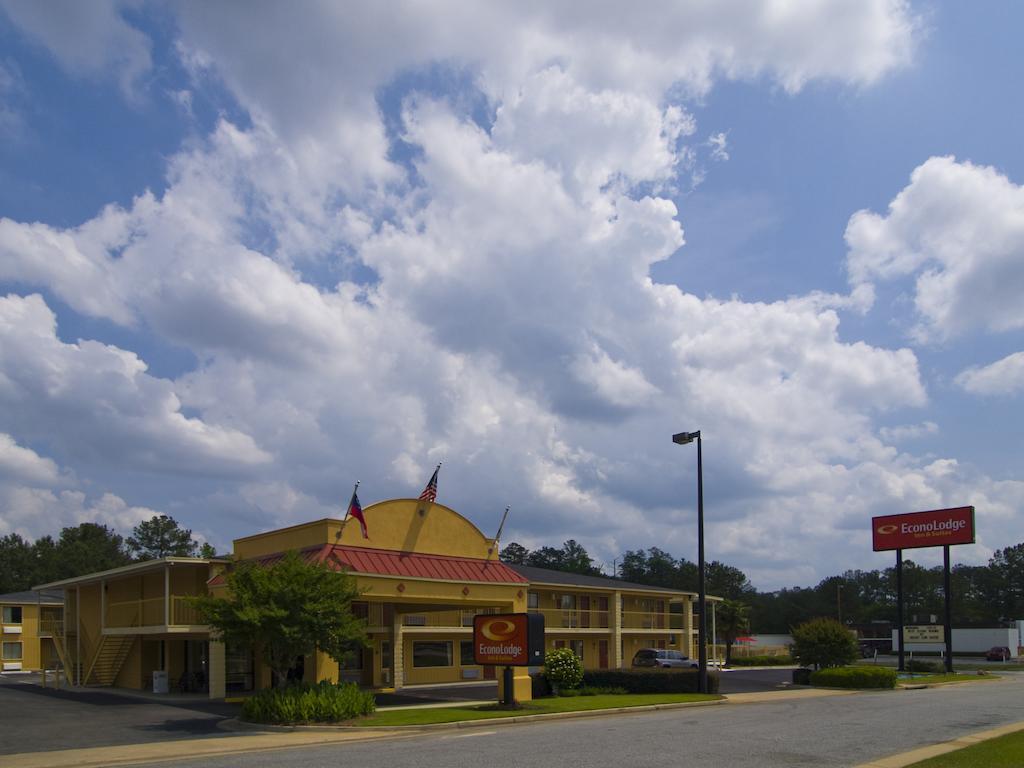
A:
<svg viewBox="0 0 1024 768">
<path fill-rule="evenodd" d="M 492 584 L 528 584 L 500 560 L 480 560 L 472 557 L 449 555 L 423 555 L 416 552 L 395 552 L 369 547 L 346 547 L 325 544 L 302 550 L 302 557 L 309 562 L 326 562 L 335 570 L 353 573 L 398 577 L 406 579 L 436 579 L 446 582 L 484 582 Z M 283 552 L 258 558 L 260 565 L 271 565 L 284 556 Z M 211 586 L 222 584 L 216 577 Z"/>
</svg>

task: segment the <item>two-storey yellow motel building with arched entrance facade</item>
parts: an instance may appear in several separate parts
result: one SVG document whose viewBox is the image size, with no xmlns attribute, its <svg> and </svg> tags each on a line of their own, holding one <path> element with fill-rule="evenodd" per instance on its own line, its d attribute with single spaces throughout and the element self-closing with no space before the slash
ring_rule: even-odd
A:
<svg viewBox="0 0 1024 768">
<path fill-rule="evenodd" d="M 319 652 L 296 659 L 294 676 L 310 682 L 403 688 L 500 678 L 473 662 L 477 613 L 542 613 L 547 649 L 571 648 L 588 669 L 629 667 L 644 647 L 697 655 L 693 593 L 503 563 L 495 540 L 441 504 L 385 501 L 364 516 L 369 539 L 354 519 L 328 518 L 237 539 L 230 557 L 167 557 L 37 587 L 63 591 L 49 647 L 73 685 L 160 689 L 166 680 L 170 691 L 211 698 L 267 687 L 269 668 L 211 637 L 185 598 L 222 594 L 233 561 L 270 564 L 297 550 L 355 579 L 353 609 L 368 628 L 368 645 L 342 665 Z M 514 684 L 516 698 L 530 697 L 526 668 Z"/>
</svg>

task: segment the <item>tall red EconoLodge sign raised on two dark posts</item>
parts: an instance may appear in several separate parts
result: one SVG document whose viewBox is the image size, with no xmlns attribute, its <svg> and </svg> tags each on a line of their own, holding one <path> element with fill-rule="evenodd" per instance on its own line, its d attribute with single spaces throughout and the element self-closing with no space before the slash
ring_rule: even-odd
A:
<svg viewBox="0 0 1024 768">
<path fill-rule="evenodd" d="M 896 624 L 899 625 L 899 669 L 903 669 L 903 550 L 942 547 L 945 592 L 946 671 L 953 671 L 953 631 L 949 547 L 974 544 L 974 507 L 933 509 L 902 515 L 871 518 L 871 544 L 876 552 L 896 550 Z"/>
</svg>

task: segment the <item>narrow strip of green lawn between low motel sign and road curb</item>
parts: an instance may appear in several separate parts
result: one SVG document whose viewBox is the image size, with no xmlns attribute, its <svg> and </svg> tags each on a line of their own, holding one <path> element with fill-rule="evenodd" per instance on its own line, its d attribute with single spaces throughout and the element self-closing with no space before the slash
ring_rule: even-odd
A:
<svg viewBox="0 0 1024 768">
<path fill-rule="evenodd" d="M 520 710 L 503 710 L 496 703 L 444 707 L 435 710 L 392 710 L 379 712 L 368 718 L 351 721 L 356 726 L 430 725 L 455 723 L 462 720 L 487 720 L 494 718 L 547 715 L 554 712 L 587 712 L 611 710 L 617 707 L 646 707 L 660 703 L 687 701 L 717 701 L 722 696 L 707 693 L 626 693 L 598 696 L 559 696 L 524 701 Z"/>
</svg>

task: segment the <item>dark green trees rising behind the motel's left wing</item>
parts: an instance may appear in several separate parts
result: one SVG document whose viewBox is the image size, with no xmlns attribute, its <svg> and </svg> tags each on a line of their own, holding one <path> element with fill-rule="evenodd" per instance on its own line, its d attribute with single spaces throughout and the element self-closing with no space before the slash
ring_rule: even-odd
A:
<svg viewBox="0 0 1024 768">
<path fill-rule="evenodd" d="M 68 526 L 56 539 L 44 536 L 32 543 L 8 534 L 0 538 L 0 594 L 142 560 L 195 555 L 213 557 L 214 549 L 167 515 L 143 520 L 128 538 L 95 522 Z"/>
</svg>

